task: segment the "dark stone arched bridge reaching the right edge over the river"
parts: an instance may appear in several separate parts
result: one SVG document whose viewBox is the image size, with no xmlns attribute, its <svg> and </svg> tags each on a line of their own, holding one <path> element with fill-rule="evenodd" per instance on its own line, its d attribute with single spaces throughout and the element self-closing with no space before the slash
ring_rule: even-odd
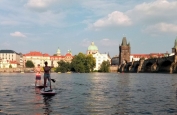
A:
<svg viewBox="0 0 177 115">
<path fill-rule="evenodd" d="M 119 72 L 177 73 L 177 54 L 154 59 L 140 59 L 119 65 Z"/>
</svg>

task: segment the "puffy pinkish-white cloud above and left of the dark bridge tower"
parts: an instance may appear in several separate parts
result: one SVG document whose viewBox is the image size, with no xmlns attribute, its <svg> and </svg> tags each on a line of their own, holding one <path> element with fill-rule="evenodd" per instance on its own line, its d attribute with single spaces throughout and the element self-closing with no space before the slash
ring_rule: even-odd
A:
<svg viewBox="0 0 177 115">
<path fill-rule="evenodd" d="M 114 11 L 111 14 L 108 14 L 107 17 L 97 20 L 93 27 L 102 28 L 109 26 L 128 26 L 131 25 L 130 18 L 125 15 L 123 12 Z"/>
</svg>

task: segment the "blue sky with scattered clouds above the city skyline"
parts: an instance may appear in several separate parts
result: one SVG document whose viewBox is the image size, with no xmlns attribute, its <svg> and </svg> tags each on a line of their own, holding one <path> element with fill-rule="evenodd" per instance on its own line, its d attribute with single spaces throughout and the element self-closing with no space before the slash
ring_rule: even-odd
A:
<svg viewBox="0 0 177 115">
<path fill-rule="evenodd" d="M 53 55 L 119 54 L 123 37 L 132 54 L 171 53 L 177 37 L 176 0 L 0 0 L 0 49 Z"/>
</svg>

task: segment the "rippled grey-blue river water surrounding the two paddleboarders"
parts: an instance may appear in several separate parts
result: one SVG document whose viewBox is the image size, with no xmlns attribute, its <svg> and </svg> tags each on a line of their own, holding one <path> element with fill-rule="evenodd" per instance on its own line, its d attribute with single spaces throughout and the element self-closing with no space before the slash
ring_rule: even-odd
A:
<svg viewBox="0 0 177 115">
<path fill-rule="evenodd" d="M 55 96 L 31 84 L 34 73 L 0 74 L 0 115 L 175 115 L 177 75 L 57 74 Z"/>
</svg>

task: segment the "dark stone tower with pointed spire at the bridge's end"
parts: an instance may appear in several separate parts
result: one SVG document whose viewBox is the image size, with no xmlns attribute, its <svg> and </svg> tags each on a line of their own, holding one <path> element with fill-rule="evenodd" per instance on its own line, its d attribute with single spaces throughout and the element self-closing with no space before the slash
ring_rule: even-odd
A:
<svg viewBox="0 0 177 115">
<path fill-rule="evenodd" d="M 126 37 L 123 37 L 122 44 L 119 45 L 119 64 L 130 62 L 130 43 L 127 44 Z"/>
</svg>

